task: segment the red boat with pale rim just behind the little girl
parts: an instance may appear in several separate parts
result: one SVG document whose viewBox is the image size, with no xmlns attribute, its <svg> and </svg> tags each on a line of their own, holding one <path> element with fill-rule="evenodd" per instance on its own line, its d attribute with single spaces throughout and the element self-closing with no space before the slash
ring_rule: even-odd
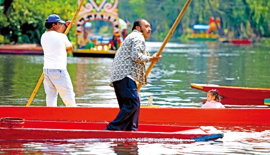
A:
<svg viewBox="0 0 270 155">
<path fill-rule="evenodd" d="M 270 98 L 270 88 L 220 86 L 216 84 L 191 83 L 191 88 L 208 92 L 218 90 L 222 104 L 264 105 L 264 99 Z"/>
</svg>

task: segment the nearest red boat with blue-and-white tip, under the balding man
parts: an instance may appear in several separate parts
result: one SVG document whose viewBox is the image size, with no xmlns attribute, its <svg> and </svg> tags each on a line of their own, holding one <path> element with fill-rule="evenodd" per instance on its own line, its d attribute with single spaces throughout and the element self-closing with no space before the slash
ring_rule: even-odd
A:
<svg viewBox="0 0 270 155">
<path fill-rule="evenodd" d="M 104 130 L 108 123 L 25 121 L 23 128 L 0 128 L 0 139 L 176 138 L 212 140 L 223 133 L 214 127 L 139 125 L 139 131 Z"/>
</svg>

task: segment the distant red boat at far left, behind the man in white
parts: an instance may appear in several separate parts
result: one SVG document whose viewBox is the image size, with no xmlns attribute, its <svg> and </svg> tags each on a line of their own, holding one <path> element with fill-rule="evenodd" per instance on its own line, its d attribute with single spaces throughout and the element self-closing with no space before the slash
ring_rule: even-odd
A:
<svg viewBox="0 0 270 155">
<path fill-rule="evenodd" d="M 36 44 L 3 44 L 0 45 L 0 54 L 43 54 L 43 49 Z"/>
</svg>

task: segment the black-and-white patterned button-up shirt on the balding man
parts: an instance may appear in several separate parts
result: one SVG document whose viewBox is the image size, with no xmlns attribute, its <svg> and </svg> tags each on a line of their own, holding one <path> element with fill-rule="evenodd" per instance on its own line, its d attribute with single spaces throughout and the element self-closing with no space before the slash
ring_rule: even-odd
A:
<svg viewBox="0 0 270 155">
<path fill-rule="evenodd" d="M 139 84 L 147 84 L 145 63 L 149 62 L 149 59 L 149 52 L 145 49 L 145 39 L 142 33 L 133 30 L 114 56 L 109 85 L 113 86 L 112 82 L 127 76 L 131 76 Z"/>
</svg>

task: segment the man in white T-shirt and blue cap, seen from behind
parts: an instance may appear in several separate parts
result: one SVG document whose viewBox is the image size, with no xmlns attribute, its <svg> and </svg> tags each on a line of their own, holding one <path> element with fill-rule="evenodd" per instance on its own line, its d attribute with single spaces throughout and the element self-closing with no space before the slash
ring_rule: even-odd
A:
<svg viewBox="0 0 270 155">
<path fill-rule="evenodd" d="M 70 22 L 62 21 L 58 15 L 50 15 L 45 22 L 47 31 L 41 36 L 44 51 L 43 83 L 47 106 L 57 106 L 58 93 L 66 106 L 77 106 L 67 71 L 67 52 L 71 52 L 73 48 L 63 33 Z"/>
</svg>

